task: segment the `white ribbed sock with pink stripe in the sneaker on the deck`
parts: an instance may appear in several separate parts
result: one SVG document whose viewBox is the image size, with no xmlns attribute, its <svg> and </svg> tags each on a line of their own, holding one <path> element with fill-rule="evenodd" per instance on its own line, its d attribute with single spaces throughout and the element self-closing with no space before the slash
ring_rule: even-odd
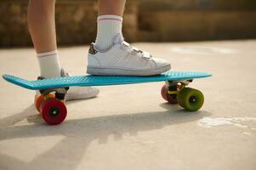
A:
<svg viewBox="0 0 256 170">
<path fill-rule="evenodd" d="M 122 16 L 114 14 L 104 14 L 97 19 L 96 48 L 105 51 L 111 48 L 114 37 L 122 34 Z"/>
</svg>

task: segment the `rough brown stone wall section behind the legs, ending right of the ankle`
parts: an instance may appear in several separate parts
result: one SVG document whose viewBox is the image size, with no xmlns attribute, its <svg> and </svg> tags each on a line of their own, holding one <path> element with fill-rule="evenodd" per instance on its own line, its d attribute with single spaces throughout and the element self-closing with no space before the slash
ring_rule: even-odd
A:
<svg viewBox="0 0 256 170">
<path fill-rule="evenodd" d="M 31 46 L 27 28 L 27 0 L 0 1 L 0 47 Z M 136 1 L 125 9 L 123 32 L 129 41 L 138 41 Z M 73 45 L 94 42 L 96 36 L 97 1 L 59 0 L 56 3 L 57 42 Z"/>
</svg>

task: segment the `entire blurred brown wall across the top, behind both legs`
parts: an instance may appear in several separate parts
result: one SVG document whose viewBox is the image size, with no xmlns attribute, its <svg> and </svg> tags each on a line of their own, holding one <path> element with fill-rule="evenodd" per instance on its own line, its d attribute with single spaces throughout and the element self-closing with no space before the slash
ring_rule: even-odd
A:
<svg viewBox="0 0 256 170">
<path fill-rule="evenodd" d="M 31 46 L 28 0 L 0 1 L 0 47 Z M 96 0 L 57 0 L 59 45 L 94 42 Z M 123 16 L 128 42 L 181 42 L 256 38 L 255 0 L 128 0 Z"/>
</svg>

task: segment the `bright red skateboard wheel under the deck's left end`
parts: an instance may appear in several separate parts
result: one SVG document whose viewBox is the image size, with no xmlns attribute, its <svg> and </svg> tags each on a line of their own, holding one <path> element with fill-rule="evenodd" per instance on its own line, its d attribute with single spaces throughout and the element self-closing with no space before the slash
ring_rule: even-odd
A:
<svg viewBox="0 0 256 170">
<path fill-rule="evenodd" d="M 50 125 L 60 124 L 65 120 L 66 107 L 59 99 L 46 99 L 40 105 L 40 113 Z"/>
</svg>

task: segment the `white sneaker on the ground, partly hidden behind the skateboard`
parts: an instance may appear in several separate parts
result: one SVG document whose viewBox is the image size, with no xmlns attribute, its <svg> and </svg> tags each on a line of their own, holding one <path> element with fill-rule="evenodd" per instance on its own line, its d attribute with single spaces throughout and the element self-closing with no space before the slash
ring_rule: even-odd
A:
<svg viewBox="0 0 256 170">
<path fill-rule="evenodd" d="M 60 73 L 61 77 L 69 77 L 69 75 L 61 69 Z M 38 77 L 43 78 L 43 77 Z M 76 99 L 89 99 L 94 98 L 100 93 L 100 90 L 98 88 L 92 88 L 92 87 L 70 87 L 67 91 L 67 94 L 65 94 L 65 101 L 69 100 L 76 100 Z M 36 96 L 39 95 L 40 92 L 36 91 Z"/>
</svg>

